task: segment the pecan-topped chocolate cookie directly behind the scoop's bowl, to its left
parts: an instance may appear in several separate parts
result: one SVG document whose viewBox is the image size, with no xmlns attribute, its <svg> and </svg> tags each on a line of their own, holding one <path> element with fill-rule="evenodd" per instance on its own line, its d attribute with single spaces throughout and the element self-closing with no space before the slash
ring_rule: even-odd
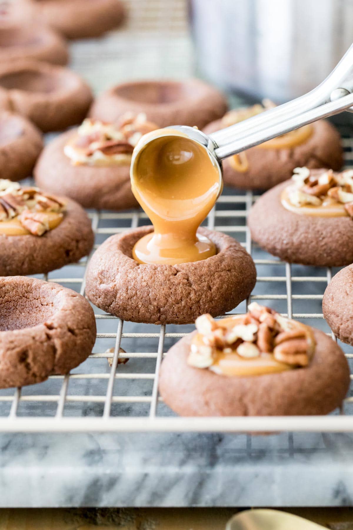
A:
<svg viewBox="0 0 353 530">
<path fill-rule="evenodd" d="M 126 113 L 115 123 L 86 119 L 44 148 L 34 169 L 35 181 L 86 208 L 136 207 L 130 184 L 131 155 L 141 136 L 154 129 L 155 123 L 143 113 Z"/>
</svg>

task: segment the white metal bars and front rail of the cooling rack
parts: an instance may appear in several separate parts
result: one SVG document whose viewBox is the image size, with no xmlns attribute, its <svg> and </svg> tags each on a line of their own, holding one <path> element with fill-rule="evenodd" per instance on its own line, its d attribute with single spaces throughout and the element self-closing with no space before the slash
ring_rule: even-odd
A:
<svg viewBox="0 0 353 530">
<path fill-rule="evenodd" d="M 346 158 L 351 159 L 353 140 L 343 140 L 346 149 Z M 348 153 L 347 153 L 348 151 Z M 353 160 L 350 160 L 353 164 Z M 232 224 L 220 226 L 216 228 L 226 233 L 243 233 L 245 234 L 245 245 L 247 251 L 251 253 L 251 238 L 248 228 L 245 224 L 239 224 L 239 219 L 245 219 L 248 210 L 255 198 L 251 192 L 245 195 L 231 195 L 222 196 L 218 201 L 218 205 L 232 205 L 237 207 L 245 207 L 245 209 L 218 209 L 217 206 L 211 211 L 207 226 L 213 228 L 217 219 L 228 218 L 231 219 Z M 122 227 L 99 227 L 101 220 L 115 220 L 116 222 L 130 220 L 131 228 L 139 225 L 139 220 L 146 218 L 146 215 L 138 211 L 122 212 L 122 213 L 99 213 L 90 214 L 92 217 L 92 226 L 94 232 L 98 235 L 110 236 L 119 233 L 126 228 Z M 97 248 L 97 245 L 95 245 Z M 84 263 L 87 265 L 88 260 Z M 318 294 L 292 294 L 292 282 L 322 282 L 323 287 L 331 279 L 331 269 L 325 270 L 324 275 L 318 276 L 292 276 L 291 265 L 284 263 L 276 258 L 268 255 L 266 259 L 255 259 L 257 266 L 285 266 L 285 276 L 258 276 L 257 282 L 268 282 L 269 290 L 271 285 L 276 282 L 285 282 L 286 294 L 263 294 L 251 295 L 250 300 L 266 299 L 270 301 L 286 300 L 287 312 L 289 317 L 295 319 L 323 319 L 322 313 L 293 313 L 292 301 L 295 299 L 301 301 L 308 301 L 313 299 L 320 299 L 322 295 Z M 82 268 L 83 262 L 78 264 Z M 86 270 L 86 267 L 85 267 Z M 48 279 L 48 277 L 45 277 Z M 85 293 L 85 273 L 82 278 L 68 278 L 56 277 L 49 278 L 49 281 L 56 281 L 59 284 L 70 286 L 73 284 L 81 284 L 80 293 Z M 249 301 L 248 301 L 249 302 Z M 168 333 L 166 326 L 159 326 L 158 333 L 146 333 L 143 331 L 144 324 L 140 324 L 141 332 L 138 333 L 124 333 L 123 321 L 116 319 L 116 317 L 108 314 L 96 314 L 97 324 L 99 321 L 105 319 L 114 319 L 116 321 L 115 333 L 97 333 L 98 339 L 115 339 L 115 348 L 112 366 L 110 373 L 80 373 L 68 374 L 66 376 L 51 376 L 49 381 L 55 379 L 62 379 L 61 390 L 58 394 L 40 395 L 35 392 L 30 395 L 22 395 L 21 388 L 16 388 L 12 395 L 1 395 L 0 404 L 3 402 L 10 402 L 10 412 L 7 416 L 3 416 L 0 420 L 0 432 L 286 432 L 286 431 L 311 431 L 311 432 L 353 432 L 353 416 L 343 413 L 344 405 L 352 403 L 353 398 L 347 398 L 341 413 L 338 415 L 329 416 L 310 416 L 310 417 L 212 417 L 212 418 L 182 418 L 182 417 L 165 417 L 158 414 L 158 405 L 161 398 L 158 396 L 158 375 L 162 357 L 165 354 L 164 343 L 166 338 L 178 340 L 183 337 L 185 333 Z M 129 359 L 147 359 L 155 358 L 156 367 L 155 373 L 130 373 L 120 372 L 118 360 L 119 349 L 121 342 L 124 339 L 139 338 L 156 341 L 157 351 L 155 352 L 128 352 L 126 357 Z M 125 356 L 125 355 L 124 355 Z M 112 357 L 112 354 L 94 353 L 90 355 L 89 361 L 94 362 L 94 359 L 102 359 Z M 353 354 L 347 354 L 348 358 L 353 358 Z M 69 382 L 74 382 L 75 379 L 99 379 L 107 381 L 105 394 L 102 395 L 69 395 Z M 150 379 L 153 381 L 152 392 L 150 396 L 146 395 L 114 395 L 114 383 L 121 379 Z M 26 388 L 37 388 L 38 385 Z M 27 416 L 23 417 L 17 414 L 17 409 L 21 403 L 25 402 L 40 402 L 43 407 L 43 416 Z M 65 416 L 65 406 L 67 403 L 102 403 L 104 404 L 103 414 L 96 417 L 67 417 Z M 56 413 L 53 417 L 44 417 L 46 405 L 48 403 L 56 403 Z M 125 417 L 125 416 L 111 416 L 111 408 L 113 403 L 149 403 L 149 413 L 146 416 L 139 417 Z"/>
</svg>

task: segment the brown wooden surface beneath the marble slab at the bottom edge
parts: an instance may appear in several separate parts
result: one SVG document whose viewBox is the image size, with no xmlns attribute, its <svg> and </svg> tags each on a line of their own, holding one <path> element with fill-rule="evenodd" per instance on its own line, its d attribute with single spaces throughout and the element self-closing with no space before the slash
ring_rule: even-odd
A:
<svg viewBox="0 0 353 530">
<path fill-rule="evenodd" d="M 0 509 L 0 530 L 224 530 L 231 508 Z M 287 510 L 331 530 L 353 530 L 350 508 Z"/>
</svg>

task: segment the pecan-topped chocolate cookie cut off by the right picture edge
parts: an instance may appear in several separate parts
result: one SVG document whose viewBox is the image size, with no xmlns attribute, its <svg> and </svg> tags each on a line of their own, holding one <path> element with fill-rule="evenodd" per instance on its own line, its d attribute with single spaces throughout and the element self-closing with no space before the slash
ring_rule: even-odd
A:
<svg viewBox="0 0 353 530">
<path fill-rule="evenodd" d="M 248 226 L 262 249 L 284 261 L 341 267 L 353 262 L 352 210 L 351 170 L 302 167 L 255 202 Z"/>
</svg>

